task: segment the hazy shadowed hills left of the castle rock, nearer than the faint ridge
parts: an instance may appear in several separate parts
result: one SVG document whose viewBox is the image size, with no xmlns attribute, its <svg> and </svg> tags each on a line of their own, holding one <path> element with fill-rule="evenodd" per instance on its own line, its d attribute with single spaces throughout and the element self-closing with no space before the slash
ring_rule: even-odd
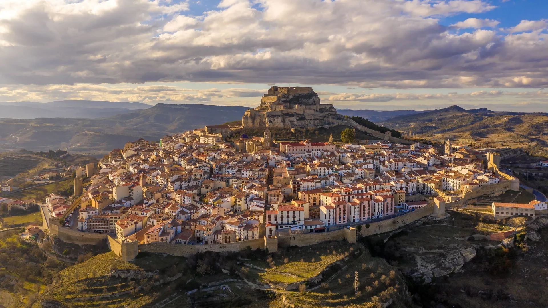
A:
<svg viewBox="0 0 548 308">
<path fill-rule="evenodd" d="M 157 104 L 106 118 L 0 119 L 0 151 L 62 149 L 100 154 L 138 138 L 156 140 L 242 118 L 248 107 Z"/>
</svg>

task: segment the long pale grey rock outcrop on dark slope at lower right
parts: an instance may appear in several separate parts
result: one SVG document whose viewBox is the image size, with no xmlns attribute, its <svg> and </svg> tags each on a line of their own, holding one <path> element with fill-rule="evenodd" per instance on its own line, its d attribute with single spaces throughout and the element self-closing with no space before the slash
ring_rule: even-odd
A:
<svg viewBox="0 0 548 308">
<path fill-rule="evenodd" d="M 415 256 L 417 267 L 412 269 L 409 276 L 416 281 L 432 282 L 432 278 L 441 277 L 458 271 L 463 265 L 476 256 L 476 249 L 472 247 L 456 247 L 444 249 L 444 258 L 439 255 Z"/>
</svg>

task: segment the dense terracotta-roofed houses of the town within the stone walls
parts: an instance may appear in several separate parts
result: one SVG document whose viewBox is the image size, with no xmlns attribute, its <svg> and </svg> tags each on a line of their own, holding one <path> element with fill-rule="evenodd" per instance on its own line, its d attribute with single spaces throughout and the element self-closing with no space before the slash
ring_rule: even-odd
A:
<svg viewBox="0 0 548 308">
<path fill-rule="evenodd" d="M 258 110 L 290 108 L 277 103 L 279 92 L 292 99 L 313 93 L 293 90 L 272 87 L 265 98 L 275 100 L 261 100 Z M 519 180 L 499 169 L 496 149 L 450 141 L 437 149 L 390 138 L 337 145 L 332 136 L 327 142 L 276 141 L 268 126 L 262 136 L 223 140 L 239 129 L 212 125 L 128 142 L 98 164 L 76 169 L 78 201 L 69 207 L 62 197 L 49 196 L 45 220 L 51 225 L 62 218 L 67 229 L 105 233 L 123 243 L 225 244 L 331 232 L 428 204 L 443 216 L 446 204 L 519 190 Z M 522 207 L 533 216 L 545 206 L 536 201 Z"/>
</svg>

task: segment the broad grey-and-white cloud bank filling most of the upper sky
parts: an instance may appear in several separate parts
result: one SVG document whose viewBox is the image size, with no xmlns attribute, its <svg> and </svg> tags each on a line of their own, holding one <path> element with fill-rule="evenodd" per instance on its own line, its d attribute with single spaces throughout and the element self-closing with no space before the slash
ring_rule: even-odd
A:
<svg viewBox="0 0 548 308">
<path fill-rule="evenodd" d="M 545 21 L 504 33 L 483 0 L 0 1 L 0 84 L 548 86 Z M 454 33 L 452 28 L 465 28 Z"/>
</svg>

